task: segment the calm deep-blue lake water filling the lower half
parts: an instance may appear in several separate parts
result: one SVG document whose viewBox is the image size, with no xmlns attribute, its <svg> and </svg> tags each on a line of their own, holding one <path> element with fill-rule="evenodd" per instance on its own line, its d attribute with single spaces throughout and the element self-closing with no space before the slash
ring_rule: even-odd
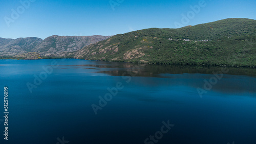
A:
<svg viewBox="0 0 256 144">
<path fill-rule="evenodd" d="M 217 79 L 213 72 L 221 70 L 0 60 L 0 143 L 256 143 L 256 70 L 227 68 Z M 1 121 L 5 86 L 8 142 Z"/>
</svg>

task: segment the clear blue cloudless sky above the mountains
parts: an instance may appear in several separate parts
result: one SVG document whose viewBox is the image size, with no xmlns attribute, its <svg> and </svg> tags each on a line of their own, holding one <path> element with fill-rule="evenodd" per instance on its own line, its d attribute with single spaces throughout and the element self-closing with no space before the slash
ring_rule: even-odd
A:
<svg viewBox="0 0 256 144">
<path fill-rule="evenodd" d="M 200 2 L 113 0 L 120 3 L 113 9 L 109 0 L 33 1 L 25 7 L 19 0 L 1 0 L 0 37 L 45 39 L 52 35 L 116 35 L 147 28 L 176 28 L 175 21 L 182 24 L 182 14 L 187 15 L 190 6 Z M 225 18 L 256 19 L 255 0 L 205 0 L 205 3 L 199 12 L 190 13 L 189 21 L 183 22 L 186 26 Z"/>
</svg>

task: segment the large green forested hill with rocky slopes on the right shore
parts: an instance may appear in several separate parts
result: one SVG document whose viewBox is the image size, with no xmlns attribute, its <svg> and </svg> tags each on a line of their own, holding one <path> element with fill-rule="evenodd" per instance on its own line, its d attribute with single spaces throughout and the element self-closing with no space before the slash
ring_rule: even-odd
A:
<svg viewBox="0 0 256 144">
<path fill-rule="evenodd" d="M 256 20 L 230 18 L 180 29 L 118 34 L 70 57 L 180 65 L 256 66 Z"/>
</svg>

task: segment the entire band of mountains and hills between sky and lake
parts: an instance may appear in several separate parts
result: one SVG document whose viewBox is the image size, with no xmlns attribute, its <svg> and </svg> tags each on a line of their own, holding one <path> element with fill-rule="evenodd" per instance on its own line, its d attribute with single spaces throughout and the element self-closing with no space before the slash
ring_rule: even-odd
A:
<svg viewBox="0 0 256 144">
<path fill-rule="evenodd" d="M 0 58 L 256 67 L 256 20 L 229 18 L 180 29 L 152 28 L 112 37 L 0 38 Z"/>
</svg>

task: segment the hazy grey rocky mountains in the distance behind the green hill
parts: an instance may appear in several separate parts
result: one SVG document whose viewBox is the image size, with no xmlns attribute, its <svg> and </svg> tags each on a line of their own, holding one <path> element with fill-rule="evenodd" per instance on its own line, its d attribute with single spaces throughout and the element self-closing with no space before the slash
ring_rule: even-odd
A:
<svg viewBox="0 0 256 144">
<path fill-rule="evenodd" d="M 67 53 L 82 49 L 92 43 L 111 36 L 50 36 L 42 40 L 36 37 L 5 39 L 0 38 L 0 57 L 19 57 L 29 52 L 44 58 L 66 57 Z"/>
</svg>

